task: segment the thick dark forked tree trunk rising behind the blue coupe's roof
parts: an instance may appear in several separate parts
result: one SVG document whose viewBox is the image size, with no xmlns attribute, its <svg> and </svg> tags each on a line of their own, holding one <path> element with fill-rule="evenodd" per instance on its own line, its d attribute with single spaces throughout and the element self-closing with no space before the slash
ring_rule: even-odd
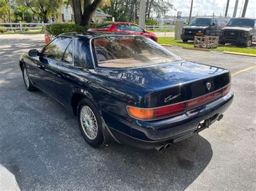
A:
<svg viewBox="0 0 256 191">
<path fill-rule="evenodd" d="M 92 16 L 102 1 L 103 0 L 72 0 L 75 23 L 90 27 Z"/>
</svg>

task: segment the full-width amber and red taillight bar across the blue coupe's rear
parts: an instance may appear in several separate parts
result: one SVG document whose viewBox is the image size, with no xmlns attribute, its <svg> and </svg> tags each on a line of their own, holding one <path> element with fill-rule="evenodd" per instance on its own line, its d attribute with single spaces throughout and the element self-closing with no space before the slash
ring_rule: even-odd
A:
<svg viewBox="0 0 256 191">
<path fill-rule="evenodd" d="M 129 115 L 133 118 L 142 121 L 152 121 L 182 114 L 186 110 L 200 107 L 201 105 L 217 100 L 217 98 L 221 96 L 227 95 L 229 91 L 230 84 L 210 94 L 206 94 L 204 96 L 200 96 L 186 102 L 176 103 L 158 108 L 136 108 L 132 106 L 127 106 L 127 111 Z"/>
</svg>

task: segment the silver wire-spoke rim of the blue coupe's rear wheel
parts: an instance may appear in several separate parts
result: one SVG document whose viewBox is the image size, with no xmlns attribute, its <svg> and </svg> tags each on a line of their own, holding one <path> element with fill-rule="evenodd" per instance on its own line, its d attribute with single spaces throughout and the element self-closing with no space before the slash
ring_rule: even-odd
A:
<svg viewBox="0 0 256 191">
<path fill-rule="evenodd" d="M 86 137 L 91 140 L 96 139 L 98 133 L 97 120 L 95 114 L 87 105 L 84 105 L 80 110 L 80 123 Z"/>
</svg>

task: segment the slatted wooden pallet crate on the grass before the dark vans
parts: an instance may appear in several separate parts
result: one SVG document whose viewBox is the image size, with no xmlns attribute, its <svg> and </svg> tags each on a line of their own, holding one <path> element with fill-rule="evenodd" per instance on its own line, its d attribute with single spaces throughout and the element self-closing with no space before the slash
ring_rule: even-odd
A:
<svg viewBox="0 0 256 191">
<path fill-rule="evenodd" d="M 215 36 L 204 36 L 194 37 L 194 47 L 197 48 L 217 48 L 219 44 L 219 37 Z"/>
</svg>

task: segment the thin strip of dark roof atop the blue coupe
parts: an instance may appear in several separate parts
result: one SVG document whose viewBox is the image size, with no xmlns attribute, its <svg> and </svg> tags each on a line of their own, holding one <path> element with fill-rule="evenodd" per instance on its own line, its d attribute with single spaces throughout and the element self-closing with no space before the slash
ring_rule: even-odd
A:
<svg viewBox="0 0 256 191">
<path fill-rule="evenodd" d="M 59 34 L 58 37 L 76 37 L 76 38 L 85 38 L 92 39 L 96 37 L 106 37 L 106 36 L 140 36 L 129 33 L 115 33 L 115 32 L 69 32 Z M 144 37 L 144 36 L 143 36 Z"/>
</svg>

